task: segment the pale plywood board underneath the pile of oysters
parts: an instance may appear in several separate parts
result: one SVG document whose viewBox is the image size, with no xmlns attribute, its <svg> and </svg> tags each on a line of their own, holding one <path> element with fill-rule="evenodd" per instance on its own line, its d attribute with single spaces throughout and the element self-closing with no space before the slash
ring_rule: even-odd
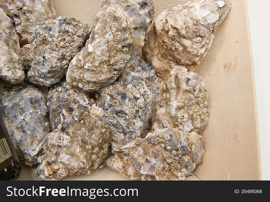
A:
<svg viewBox="0 0 270 202">
<path fill-rule="evenodd" d="M 0 0 L 0 3 L 2 2 L 3 0 Z M 90 24 L 102 4 L 101 0 L 53 2 L 57 15 L 74 17 Z M 157 16 L 163 10 L 187 1 L 154 2 Z M 211 110 L 209 124 L 203 134 L 206 153 L 203 156 L 203 165 L 196 170 L 196 175 L 201 180 L 260 179 L 256 101 L 246 2 L 231 2 L 233 7 L 230 13 L 219 25 L 212 47 L 197 69 L 209 91 Z M 31 168 L 24 170 L 28 174 L 23 173 L 21 179 L 31 175 Z M 104 167 L 94 174 L 68 179 L 126 178 Z"/>
</svg>

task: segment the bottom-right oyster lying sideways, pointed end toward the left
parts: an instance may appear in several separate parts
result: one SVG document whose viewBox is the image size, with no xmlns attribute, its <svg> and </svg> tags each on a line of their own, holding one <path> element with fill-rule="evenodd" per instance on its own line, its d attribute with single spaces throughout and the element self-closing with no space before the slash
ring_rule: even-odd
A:
<svg viewBox="0 0 270 202">
<path fill-rule="evenodd" d="M 158 129 L 122 147 L 106 162 L 129 179 L 184 180 L 204 154 L 201 136 L 177 129 Z"/>
</svg>

